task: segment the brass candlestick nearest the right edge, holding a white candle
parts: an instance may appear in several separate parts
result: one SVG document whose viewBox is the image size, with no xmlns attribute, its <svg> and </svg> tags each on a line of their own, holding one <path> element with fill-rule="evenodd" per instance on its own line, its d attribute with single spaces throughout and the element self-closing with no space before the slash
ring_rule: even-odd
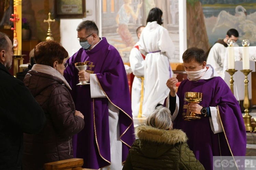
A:
<svg viewBox="0 0 256 170">
<path fill-rule="evenodd" d="M 253 131 L 253 128 L 252 128 L 252 125 L 251 125 L 251 118 L 252 116 L 249 115 L 249 107 L 250 107 L 250 101 L 249 101 L 249 96 L 248 96 L 248 80 L 247 80 L 247 75 L 253 71 L 253 70 L 240 70 L 241 72 L 244 73 L 245 75 L 245 80 L 244 80 L 244 116 L 243 116 L 243 119 L 244 119 L 244 125 L 245 125 L 245 130 L 246 131 L 250 131 L 252 132 Z"/>
</svg>

